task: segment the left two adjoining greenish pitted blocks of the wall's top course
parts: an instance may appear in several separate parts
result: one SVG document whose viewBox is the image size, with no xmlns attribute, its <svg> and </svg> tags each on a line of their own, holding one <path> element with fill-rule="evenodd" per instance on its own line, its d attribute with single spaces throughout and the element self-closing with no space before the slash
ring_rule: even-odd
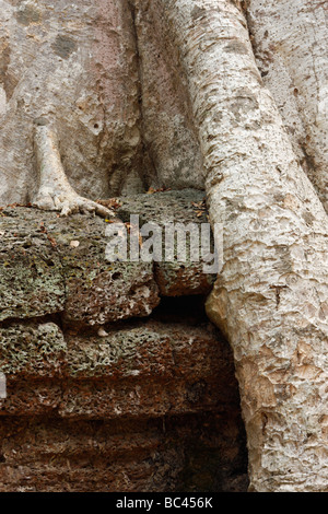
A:
<svg viewBox="0 0 328 514">
<path fill-rule="evenodd" d="M 102 325 L 148 316 L 159 304 L 151 262 L 108 262 L 106 222 L 9 208 L 0 219 L 0 319 L 65 311 L 68 322 Z"/>
</svg>

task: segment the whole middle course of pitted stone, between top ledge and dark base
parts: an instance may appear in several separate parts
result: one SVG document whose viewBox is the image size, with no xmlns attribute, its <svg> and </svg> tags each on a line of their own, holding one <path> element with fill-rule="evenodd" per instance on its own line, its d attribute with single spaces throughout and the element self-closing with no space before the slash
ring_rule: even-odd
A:
<svg viewBox="0 0 328 514">
<path fill-rule="evenodd" d="M 99 337 L 91 328 L 63 336 L 54 323 L 13 323 L 0 342 L 1 414 L 156 418 L 238 405 L 229 344 L 208 324 L 139 322 Z"/>
</svg>

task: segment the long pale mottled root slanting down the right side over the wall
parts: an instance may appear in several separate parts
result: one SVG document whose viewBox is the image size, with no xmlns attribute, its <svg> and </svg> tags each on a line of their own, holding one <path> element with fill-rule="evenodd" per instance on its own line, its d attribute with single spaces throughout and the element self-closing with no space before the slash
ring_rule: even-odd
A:
<svg viewBox="0 0 328 514">
<path fill-rule="evenodd" d="M 227 0 L 157 0 L 188 78 L 224 266 L 208 313 L 234 350 L 250 490 L 327 491 L 328 221 Z"/>
</svg>

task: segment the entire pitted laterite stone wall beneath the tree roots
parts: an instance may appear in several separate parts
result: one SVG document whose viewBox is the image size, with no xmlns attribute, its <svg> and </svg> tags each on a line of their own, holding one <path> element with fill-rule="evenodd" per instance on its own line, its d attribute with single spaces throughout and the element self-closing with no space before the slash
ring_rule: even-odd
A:
<svg viewBox="0 0 328 514">
<path fill-rule="evenodd" d="M 202 200 L 115 207 L 127 226 L 200 223 Z M 213 277 L 190 260 L 108 262 L 105 229 L 1 210 L 0 491 L 245 491 L 232 353 L 203 308 Z"/>
</svg>

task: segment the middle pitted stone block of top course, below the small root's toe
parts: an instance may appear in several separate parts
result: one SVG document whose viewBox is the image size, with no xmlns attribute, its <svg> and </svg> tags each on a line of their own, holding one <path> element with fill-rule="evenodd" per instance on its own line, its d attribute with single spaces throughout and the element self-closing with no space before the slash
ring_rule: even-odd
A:
<svg viewBox="0 0 328 514">
<path fill-rule="evenodd" d="M 73 222 L 72 217 L 68 223 Z M 51 231 L 60 242 L 62 270 L 66 277 L 66 309 L 68 322 L 102 325 L 133 316 L 148 316 L 160 302 L 151 262 L 106 259 L 108 238 L 101 219 L 87 219 L 77 226 L 67 241 Z M 71 247 L 71 242 L 78 246 Z"/>
</svg>

